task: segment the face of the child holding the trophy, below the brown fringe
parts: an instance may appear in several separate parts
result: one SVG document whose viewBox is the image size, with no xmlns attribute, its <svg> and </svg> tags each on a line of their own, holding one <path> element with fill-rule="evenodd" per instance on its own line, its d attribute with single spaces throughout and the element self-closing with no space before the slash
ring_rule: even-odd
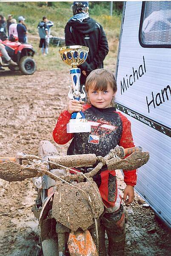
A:
<svg viewBox="0 0 171 256">
<path fill-rule="evenodd" d="M 96 108 L 109 108 L 114 93 L 110 84 L 107 90 L 94 90 L 93 84 L 88 87 L 88 96 L 91 104 Z"/>
</svg>

